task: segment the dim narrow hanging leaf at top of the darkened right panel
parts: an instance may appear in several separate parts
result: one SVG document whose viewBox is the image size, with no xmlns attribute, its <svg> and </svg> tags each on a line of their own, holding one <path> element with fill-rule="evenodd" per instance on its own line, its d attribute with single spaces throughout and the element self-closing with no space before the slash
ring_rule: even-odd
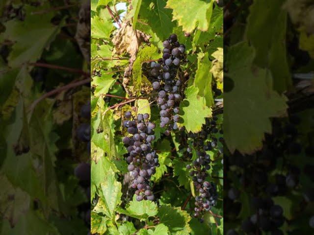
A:
<svg viewBox="0 0 314 235">
<path fill-rule="evenodd" d="M 246 38 L 255 50 L 254 63 L 268 68 L 273 77 L 273 87 L 283 93 L 292 85 L 287 55 L 287 11 L 286 0 L 255 0 L 247 18 Z M 271 5 L 271 7 L 268 7 Z M 264 12 L 265 14 L 260 14 Z M 267 37 L 261 37 L 263 35 Z"/>
</svg>

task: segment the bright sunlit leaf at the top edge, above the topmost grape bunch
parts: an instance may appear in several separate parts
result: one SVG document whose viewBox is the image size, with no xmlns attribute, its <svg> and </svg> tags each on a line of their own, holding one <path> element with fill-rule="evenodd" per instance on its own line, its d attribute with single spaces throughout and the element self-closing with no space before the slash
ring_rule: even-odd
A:
<svg viewBox="0 0 314 235">
<path fill-rule="evenodd" d="M 212 4 L 213 0 L 168 0 L 166 8 L 172 9 L 173 20 L 177 20 L 185 32 L 191 33 L 196 27 L 208 30 Z"/>
</svg>

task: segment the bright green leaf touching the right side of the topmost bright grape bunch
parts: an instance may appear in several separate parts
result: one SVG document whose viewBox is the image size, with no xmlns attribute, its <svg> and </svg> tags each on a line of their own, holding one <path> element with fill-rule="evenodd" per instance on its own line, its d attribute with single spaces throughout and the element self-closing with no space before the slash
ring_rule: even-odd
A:
<svg viewBox="0 0 314 235">
<path fill-rule="evenodd" d="M 184 126 L 187 132 L 200 132 L 205 118 L 211 117 L 211 109 L 206 105 L 205 97 L 198 95 L 197 87 L 188 87 L 185 94 L 186 98 L 180 104 L 183 122 L 178 126 Z"/>
</svg>

